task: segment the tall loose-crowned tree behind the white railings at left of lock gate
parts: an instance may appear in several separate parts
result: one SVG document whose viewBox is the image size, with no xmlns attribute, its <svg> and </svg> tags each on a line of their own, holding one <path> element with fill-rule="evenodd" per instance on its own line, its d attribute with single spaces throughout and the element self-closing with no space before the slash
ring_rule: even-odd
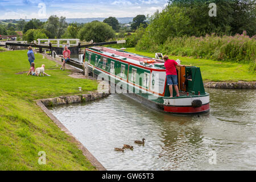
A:
<svg viewBox="0 0 256 182">
<path fill-rule="evenodd" d="M 65 28 L 68 27 L 65 19 L 63 16 L 60 16 L 60 18 L 56 15 L 49 16 L 46 24 L 44 24 L 44 28 L 49 32 L 50 39 L 54 39 L 55 37 L 60 39 L 65 33 Z"/>
</svg>

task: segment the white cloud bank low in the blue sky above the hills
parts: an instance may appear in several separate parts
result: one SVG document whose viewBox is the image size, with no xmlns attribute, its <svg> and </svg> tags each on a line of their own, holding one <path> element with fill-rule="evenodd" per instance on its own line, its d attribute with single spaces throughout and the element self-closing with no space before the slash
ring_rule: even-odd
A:
<svg viewBox="0 0 256 182">
<path fill-rule="evenodd" d="M 14 0 L 15 1 L 15 0 Z M 36 0 L 39 1 L 39 0 Z M 19 19 L 19 18 L 48 18 L 50 15 L 65 16 L 66 18 L 106 18 L 109 16 L 115 17 L 133 17 L 138 14 L 152 15 L 156 10 L 162 11 L 167 5 L 167 0 L 148 0 L 148 1 L 114 1 L 112 4 L 98 3 L 52 3 L 46 6 L 46 17 L 39 16 L 39 8 L 33 8 L 33 12 L 24 10 L 5 10 L 5 13 L 0 14 L 0 19 Z M 129 6 L 127 6 L 129 4 Z M 130 5 L 131 4 L 131 5 Z M 125 6 L 126 5 L 126 6 Z"/>
</svg>

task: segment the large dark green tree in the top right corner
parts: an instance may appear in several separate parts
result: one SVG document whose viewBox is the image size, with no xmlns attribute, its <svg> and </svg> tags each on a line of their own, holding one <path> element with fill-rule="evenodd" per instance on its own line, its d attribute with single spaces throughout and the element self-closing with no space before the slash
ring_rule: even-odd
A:
<svg viewBox="0 0 256 182">
<path fill-rule="evenodd" d="M 216 3 L 217 16 L 210 17 L 209 4 Z M 246 30 L 249 36 L 256 34 L 255 0 L 169 0 L 169 6 L 185 8 L 192 28 L 190 35 L 204 36 L 242 34 Z"/>
</svg>

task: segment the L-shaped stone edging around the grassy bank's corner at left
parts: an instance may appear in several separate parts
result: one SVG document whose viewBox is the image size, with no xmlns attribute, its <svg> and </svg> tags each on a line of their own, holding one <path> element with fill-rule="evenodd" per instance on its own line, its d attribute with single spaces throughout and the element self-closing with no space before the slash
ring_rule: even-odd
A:
<svg viewBox="0 0 256 182">
<path fill-rule="evenodd" d="M 48 117 L 67 135 L 72 139 L 72 142 L 76 143 L 79 149 L 82 151 L 82 154 L 96 167 L 99 171 L 106 171 L 106 168 L 85 148 L 85 146 L 65 127 L 59 119 L 57 119 L 51 111 L 47 109 L 47 106 L 61 105 L 61 104 L 72 104 L 72 103 L 81 103 L 97 100 L 98 98 L 107 97 L 109 93 L 91 93 L 91 94 L 82 94 L 80 96 L 60 96 L 55 98 L 47 98 L 42 100 L 37 100 L 36 104 L 41 107 L 41 109 L 48 115 Z"/>
</svg>

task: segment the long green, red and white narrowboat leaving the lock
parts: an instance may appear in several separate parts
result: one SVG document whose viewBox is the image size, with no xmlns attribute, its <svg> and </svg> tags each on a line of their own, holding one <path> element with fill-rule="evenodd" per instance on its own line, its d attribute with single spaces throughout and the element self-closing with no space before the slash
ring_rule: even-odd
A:
<svg viewBox="0 0 256 182">
<path fill-rule="evenodd" d="M 122 94 L 152 109 L 174 114 L 208 112 L 209 93 L 205 92 L 199 67 L 177 68 L 180 97 L 170 97 L 162 54 L 155 58 L 109 47 L 86 48 L 89 72 L 107 77 Z M 173 89 L 173 96 L 176 96 Z"/>
</svg>

